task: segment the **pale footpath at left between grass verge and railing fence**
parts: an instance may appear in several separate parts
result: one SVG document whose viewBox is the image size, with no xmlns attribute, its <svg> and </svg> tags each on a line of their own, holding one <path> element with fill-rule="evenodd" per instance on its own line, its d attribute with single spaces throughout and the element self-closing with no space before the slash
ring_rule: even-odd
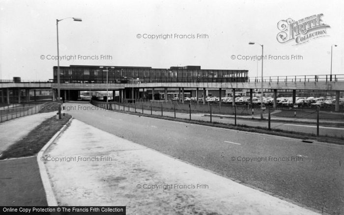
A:
<svg viewBox="0 0 344 215">
<path fill-rule="evenodd" d="M 0 123 L 0 154 L 56 112 L 38 113 Z"/>
</svg>

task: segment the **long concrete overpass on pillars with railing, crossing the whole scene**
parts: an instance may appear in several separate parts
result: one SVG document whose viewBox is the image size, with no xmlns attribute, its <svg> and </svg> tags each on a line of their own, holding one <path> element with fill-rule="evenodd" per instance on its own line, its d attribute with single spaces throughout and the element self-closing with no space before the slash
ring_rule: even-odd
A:
<svg viewBox="0 0 344 215">
<path fill-rule="evenodd" d="M 173 82 L 172 82 L 173 81 Z M 262 82 L 261 82 L 262 81 Z M 96 91 L 96 90 L 112 90 L 119 91 L 120 101 L 126 98 L 140 98 L 140 89 L 150 89 L 154 95 L 154 89 L 163 89 L 165 91 L 165 99 L 167 99 L 168 89 L 177 88 L 179 98 L 184 98 L 184 90 L 193 89 L 196 91 L 196 97 L 199 98 L 200 90 L 206 95 L 206 89 L 218 89 L 221 98 L 221 91 L 224 89 L 232 89 L 233 96 L 236 89 L 250 90 L 252 98 L 253 90 L 260 89 L 261 83 L 264 90 L 274 92 L 274 106 L 276 106 L 277 92 L 279 90 L 292 90 L 293 103 L 295 103 L 296 90 L 318 90 L 335 92 L 336 94 L 336 111 L 339 110 L 339 99 L 341 91 L 344 91 L 344 75 L 307 75 L 307 76 L 274 76 L 274 77 L 251 77 L 245 82 L 228 82 L 226 78 L 212 79 L 178 79 L 178 80 L 129 80 L 125 83 L 97 83 L 96 81 L 73 81 L 60 83 L 61 95 L 70 98 L 70 95 L 76 94 L 78 91 Z M 29 96 L 29 90 L 34 89 L 53 89 L 56 91 L 58 84 L 56 80 L 49 81 L 21 81 L 13 82 L 12 80 L 0 80 L 0 101 L 9 102 L 9 92 L 25 90 L 26 96 Z M 181 93 L 181 95 L 180 95 Z M 18 93 L 20 95 L 21 93 Z M 55 93 L 54 93 L 55 94 Z M 53 94 L 53 95 L 54 95 Z M 54 95 L 55 96 L 55 95 Z M 152 97 L 154 100 L 154 96 Z M 251 99 L 252 101 L 252 99 Z M 20 99 L 19 99 L 20 102 Z M 234 102 L 234 101 L 233 101 Z M 203 97 L 205 103 L 205 97 Z M 233 103 L 234 105 L 234 103 Z"/>
</svg>

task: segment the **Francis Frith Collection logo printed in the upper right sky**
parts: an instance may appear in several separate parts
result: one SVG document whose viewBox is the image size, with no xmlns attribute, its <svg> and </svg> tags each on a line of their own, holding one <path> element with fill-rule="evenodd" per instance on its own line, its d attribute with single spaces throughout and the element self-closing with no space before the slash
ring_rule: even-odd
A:
<svg viewBox="0 0 344 215">
<path fill-rule="evenodd" d="M 287 43 L 294 41 L 295 45 L 304 44 L 318 37 L 328 36 L 326 28 L 330 27 L 322 21 L 323 14 L 316 14 L 300 20 L 281 20 L 277 27 L 281 32 L 277 34 L 277 41 Z"/>
</svg>

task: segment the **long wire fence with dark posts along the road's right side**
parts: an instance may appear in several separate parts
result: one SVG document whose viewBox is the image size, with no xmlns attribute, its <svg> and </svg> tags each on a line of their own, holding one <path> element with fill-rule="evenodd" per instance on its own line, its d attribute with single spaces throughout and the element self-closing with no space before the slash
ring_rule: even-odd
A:
<svg viewBox="0 0 344 215">
<path fill-rule="evenodd" d="M 312 136 L 329 136 L 344 140 L 344 114 L 317 109 L 278 109 L 250 105 L 197 104 L 162 101 L 132 103 L 91 101 L 97 107 L 159 115 L 172 118 L 198 120 Z"/>
</svg>

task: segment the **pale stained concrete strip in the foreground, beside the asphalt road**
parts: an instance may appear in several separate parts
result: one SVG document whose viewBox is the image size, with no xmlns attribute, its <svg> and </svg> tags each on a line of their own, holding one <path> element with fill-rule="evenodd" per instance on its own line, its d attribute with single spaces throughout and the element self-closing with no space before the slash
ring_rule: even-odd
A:
<svg viewBox="0 0 344 215">
<path fill-rule="evenodd" d="M 59 205 L 127 206 L 128 214 L 316 214 L 79 120 L 45 158 Z"/>
</svg>

